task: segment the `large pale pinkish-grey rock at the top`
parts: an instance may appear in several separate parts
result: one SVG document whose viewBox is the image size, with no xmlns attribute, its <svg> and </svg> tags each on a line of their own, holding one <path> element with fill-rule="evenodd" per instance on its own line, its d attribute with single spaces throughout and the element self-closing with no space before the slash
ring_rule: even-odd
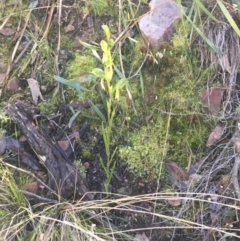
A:
<svg viewBox="0 0 240 241">
<path fill-rule="evenodd" d="M 152 0 L 149 6 L 149 13 L 139 20 L 139 28 L 147 43 L 158 49 L 164 42 L 171 41 L 181 11 L 174 1 Z M 182 7 L 182 10 L 185 8 Z"/>
</svg>

